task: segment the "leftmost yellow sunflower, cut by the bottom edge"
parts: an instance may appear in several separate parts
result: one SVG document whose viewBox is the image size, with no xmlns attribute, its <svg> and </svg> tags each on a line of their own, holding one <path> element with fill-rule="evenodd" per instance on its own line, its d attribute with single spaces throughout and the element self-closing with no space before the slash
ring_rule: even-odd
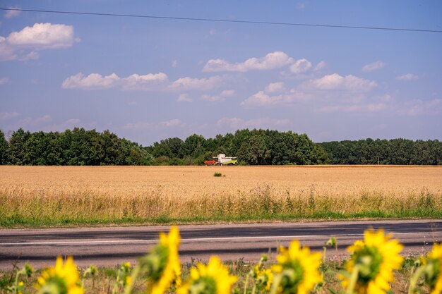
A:
<svg viewBox="0 0 442 294">
<path fill-rule="evenodd" d="M 83 294 L 84 290 L 78 283 L 77 266 L 73 263 L 73 258 L 68 257 L 63 264 L 61 256 L 56 258 L 55 266 L 43 271 L 42 276 L 37 279 L 35 288 L 38 293 L 51 294 Z"/>
</svg>

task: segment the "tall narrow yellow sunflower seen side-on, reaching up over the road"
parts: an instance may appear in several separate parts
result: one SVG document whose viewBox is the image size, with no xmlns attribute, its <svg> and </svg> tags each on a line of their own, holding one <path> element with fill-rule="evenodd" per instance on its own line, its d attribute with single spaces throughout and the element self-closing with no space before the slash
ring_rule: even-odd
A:
<svg viewBox="0 0 442 294">
<path fill-rule="evenodd" d="M 172 226 L 168 235 L 160 234 L 160 244 L 145 258 L 150 279 L 148 293 L 163 294 L 169 289 L 172 282 L 177 286 L 181 284 L 179 243 L 179 230 L 176 226 Z"/>
</svg>

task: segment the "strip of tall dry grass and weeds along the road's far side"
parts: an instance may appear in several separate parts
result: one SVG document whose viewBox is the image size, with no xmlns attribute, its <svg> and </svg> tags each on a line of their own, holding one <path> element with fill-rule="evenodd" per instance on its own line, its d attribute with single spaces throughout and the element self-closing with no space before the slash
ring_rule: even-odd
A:
<svg viewBox="0 0 442 294">
<path fill-rule="evenodd" d="M 175 197 L 159 186 L 131 195 L 94 190 L 0 189 L 0 226 L 266 219 L 441 217 L 442 192 L 355 192 L 353 195 L 275 190 L 210 192 Z"/>
</svg>

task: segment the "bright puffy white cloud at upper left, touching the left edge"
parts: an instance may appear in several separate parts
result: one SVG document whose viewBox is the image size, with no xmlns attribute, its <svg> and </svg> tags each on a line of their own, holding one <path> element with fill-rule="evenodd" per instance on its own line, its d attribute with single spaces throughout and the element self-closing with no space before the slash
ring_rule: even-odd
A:
<svg viewBox="0 0 442 294">
<path fill-rule="evenodd" d="M 8 37 L 0 36 L 0 61 L 38 59 L 37 50 L 64 49 L 75 42 L 78 39 L 73 36 L 71 25 L 35 23 Z"/>
</svg>

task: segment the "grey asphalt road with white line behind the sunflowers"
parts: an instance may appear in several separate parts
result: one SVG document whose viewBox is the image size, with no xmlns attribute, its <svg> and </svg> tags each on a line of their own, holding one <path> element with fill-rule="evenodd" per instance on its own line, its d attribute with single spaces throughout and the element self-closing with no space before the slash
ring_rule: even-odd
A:
<svg viewBox="0 0 442 294">
<path fill-rule="evenodd" d="M 277 247 L 287 246 L 295 238 L 322 251 L 325 241 L 335 236 L 338 256 L 344 257 L 345 248 L 362 239 L 369 227 L 392 233 L 405 245 L 405 256 L 427 252 L 434 242 L 442 241 L 442 220 L 222 224 L 179 226 L 179 253 L 181 262 L 205 261 L 211 255 L 225 261 L 255 261 L 269 250 L 270 258 L 275 257 Z M 168 226 L 0 230 L 0 270 L 27 261 L 36 268 L 46 267 L 58 255 L 73 255 L 79 267 L 133 263 L 157 243 L 160 231 L 168 230 Z M 328 257 L 334 255 L 334 250 L 328 250 Z"/>
</svg>

